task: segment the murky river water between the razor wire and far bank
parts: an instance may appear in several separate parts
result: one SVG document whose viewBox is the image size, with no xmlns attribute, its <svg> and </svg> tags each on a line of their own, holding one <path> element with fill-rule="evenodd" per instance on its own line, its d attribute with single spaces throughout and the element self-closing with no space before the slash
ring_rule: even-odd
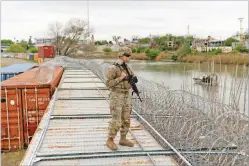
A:
<svg viewBox="0 0 249 166">
<path fill-rule="evenodd" d="M 113 63 L 114 60 L 105 61 Z M 225 67 L 225 65 L 215 64 L 212 68 L 208 63 L 131 61 L 130 67 L 136 75 L 168 86 L 172 90 L 184 89 L 216 102 L 238 104 L 241 112 L 244 112 L 244 107 L 248 110 L 248 88 L 247 90 L 245 88 L 245 85 L 248 84 L 248 82 L 245 84 L 248 78 L 248 67 L 238 66 L 237 73 L 236 65 Z M 218 75 L 218 86 L 195 84 L 194 77 L 203 76 L 212 69 Z M 235 98 L 236 100 L 234 100 Z M 244 104 L 245 100 L 247 101 L 246 105 Z"/>
</svg>

